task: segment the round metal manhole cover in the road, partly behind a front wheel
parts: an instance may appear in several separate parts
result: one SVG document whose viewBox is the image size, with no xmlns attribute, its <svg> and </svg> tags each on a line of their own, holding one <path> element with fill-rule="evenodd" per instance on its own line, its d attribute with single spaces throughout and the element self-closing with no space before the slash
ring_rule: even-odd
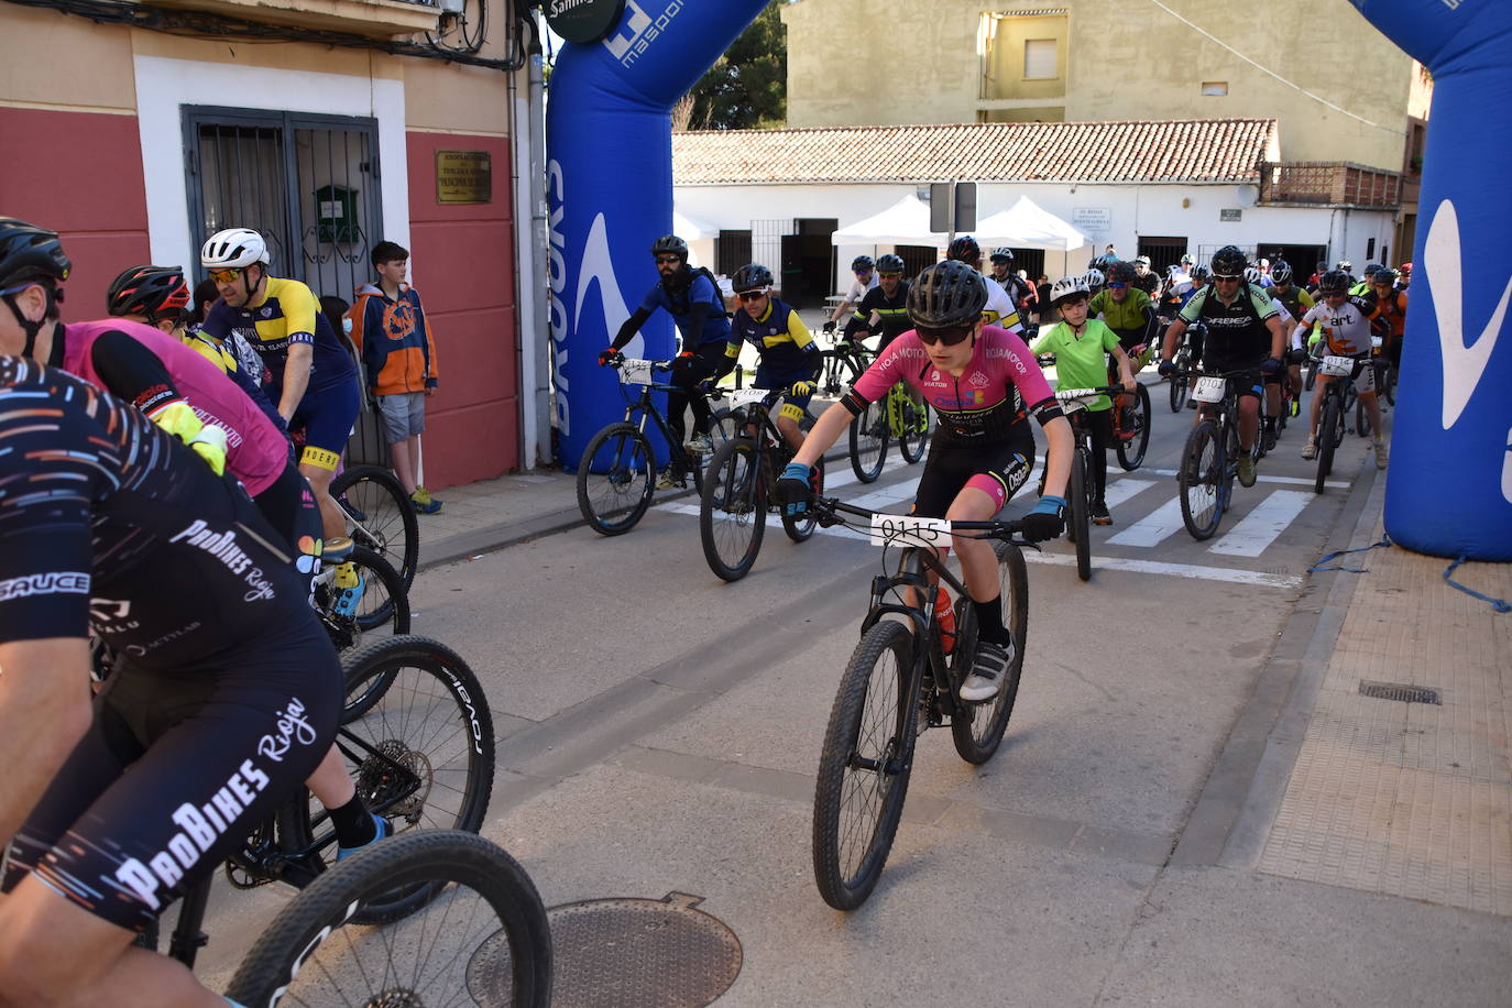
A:
<svg viewBox="0 0 1512 1008">
<path fill-rule="evenodd" d="M 546 911 L 552 925 L 552 1008 L 702 1008 L 741 972 L 735 932 L 699 896 L 588 899 Z M 467 964 L 482 1005 L 510 1003 L 510 946 L 485 942 Z"/>
</svg>

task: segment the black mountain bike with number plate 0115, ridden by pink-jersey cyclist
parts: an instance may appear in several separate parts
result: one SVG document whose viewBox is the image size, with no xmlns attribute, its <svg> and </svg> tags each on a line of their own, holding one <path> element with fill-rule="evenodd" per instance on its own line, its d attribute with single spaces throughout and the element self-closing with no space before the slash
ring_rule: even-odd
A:
<svg viewBox="0 0 1512 1008">
<path fill-rule="evenodd" d="M 851 653 L 824 731 L 813 789 L 813 878 L 836 910 L 866 901 L 892 849 L 913 771 L 913 750 L 927 728 L 950 725 L 956 751 L 986 763 L 998 751 L 1018 698 L 1028 636 L 1028 571 L 1016 521 L 947 521 L 877 514 L 820 497 L 820 524 L 868 530 L 883 546 L 885 574 L 872 579 L 860 644 Z M 862 518 L 865 524 L 850 521 Z M 962 701 L 977 650 L 975 609 L 965 585 L 945 567 L 937 546 L 951 535 L 992 538 L 998 556 L 1002 618 L 1013 635 L 1013 663 L 1002 689 L 986 703 Z M 888 547 L 901 549 L 897 567 Z M 956 644 L 940 639 L 934 573 L 956 592 Z"/>
</svg>

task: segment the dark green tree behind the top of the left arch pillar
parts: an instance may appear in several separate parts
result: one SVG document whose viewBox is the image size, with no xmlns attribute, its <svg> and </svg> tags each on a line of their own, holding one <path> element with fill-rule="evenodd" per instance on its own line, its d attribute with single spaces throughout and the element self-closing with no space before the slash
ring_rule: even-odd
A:
<svg viewBox="0 0 1512 1008">
<path fill-rule="evenodd" d="M 771 0 L 673 109 L 676 130 L 780 128 L 788 121 L 788 29 Z"/>
</svg>

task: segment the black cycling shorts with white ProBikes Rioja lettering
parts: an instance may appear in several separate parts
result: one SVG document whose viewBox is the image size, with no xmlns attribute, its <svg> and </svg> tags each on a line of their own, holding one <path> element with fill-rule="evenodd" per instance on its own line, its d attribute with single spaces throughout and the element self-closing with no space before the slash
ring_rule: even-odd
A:
<svg viewBox="0 0 1512 1008">
<path fill-rule="evenodd" d="M 32 872 L 97 917 L 145 929 L 298 793 L 331 747 L 342 695 L 314 620 L 215 669 L 127 662 L 12 840 L 0 892 Z"/>
</svg>

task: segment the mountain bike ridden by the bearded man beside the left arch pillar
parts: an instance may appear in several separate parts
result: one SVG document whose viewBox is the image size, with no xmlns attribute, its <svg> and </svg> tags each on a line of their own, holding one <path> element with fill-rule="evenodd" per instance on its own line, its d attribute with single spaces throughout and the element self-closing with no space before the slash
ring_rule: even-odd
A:
<svg viewBox="0 0 1512 1008">
<path fill-rule="evenodd" d="M 686 391 L 655 379 L 656 372 L 671 372 L 673 361 L 618 357 L 611 363 L 620 373 L 624 419 L 594 434 L 578 462 L 578 509 L 599 535 L 629 532 L 650 508 L 659 467 L 646 434 L 647 423 L 661 432 L 667 444 L 673 482 L 686 488 L 692 479 L 696 490 L 703 488 L 703 459 L 673 435 L 667 414 L 652 397 L 655 391 Z M 638 387 L 640 396 L 627 391 L 631 387 Z"/>
</svg>

